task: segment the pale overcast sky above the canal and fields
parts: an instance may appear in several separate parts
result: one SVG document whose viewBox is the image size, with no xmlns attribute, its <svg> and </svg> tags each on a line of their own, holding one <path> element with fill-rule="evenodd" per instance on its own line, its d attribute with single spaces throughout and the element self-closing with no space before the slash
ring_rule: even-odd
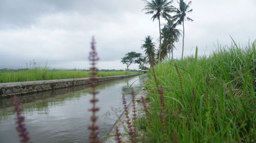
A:
<svg viewBox="0 0 256 143">
<path fill-rule="evenodd" d="M 143 53 L 147 35 L 159 45 L 158 21 L 141 11 L 144 6 L 141 0 L 0 0 L 0 69 L 30 68 L 33 60 L 50 69 L 89 69 L 92 36 L 98 69 L 125 69 L 121 58 L 131 51 Z M 209 55 L 217 42 L 230 45 L 229 35 L 241 47 L 256 39 L 255 0 L 194 0 L 190 8 L 187 16 L 194 21 L 184 22 L 184 56 L 196 46 Z M 179 59 L 182 37 L 175 45 Z M 138 69 L 138 64 L 129 68 Z"/>
</svg>

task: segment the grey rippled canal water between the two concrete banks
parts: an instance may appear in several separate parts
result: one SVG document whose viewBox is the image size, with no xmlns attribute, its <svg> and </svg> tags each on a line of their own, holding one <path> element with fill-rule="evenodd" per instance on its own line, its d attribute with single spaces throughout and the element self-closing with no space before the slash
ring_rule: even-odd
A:
<svg viewBox="0 0 256 143">
<path fill-rule="evenodd" d="M 97 125 L 99 136 L 108 133 L 123 111 L 122 93 L 132 84 L 135 92 L 142 88 L 146 75 L 101 82 Z M 19 96 L 22 114 L 33 142 L 89 142 L 92 104 L 88 85 Z M 131 101 L 131 90 L 125 95 Z M 19 142 L 13 98 L 0 99 L 0 142 Z M 103 140 L 103 139 L 101 139 Z"/>
</svg>

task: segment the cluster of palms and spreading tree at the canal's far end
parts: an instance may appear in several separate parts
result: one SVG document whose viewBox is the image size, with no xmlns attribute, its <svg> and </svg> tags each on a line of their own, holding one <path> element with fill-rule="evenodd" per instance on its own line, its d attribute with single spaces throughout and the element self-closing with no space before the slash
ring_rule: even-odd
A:
<svg viewBox="0 0 256 143">
<path fill-rule="evenodd" d="M 156 45 L 153 42 L 153 38 L 151 36 L 146 36 L 143 40 L 144 43 L 141 45 L 141 48 L 144 49 L 145 57 L 142 58 L 141 54 L 136 52 L 126 53 L 124 58 L 121 59 L 123 64 L 126 64 L 127 70 L 131 64 L 139 64 L 140 69 L 146 69 L 144 64 L 150 63 L 151 57 L 155 62 L 161 62 L 164 58 L 170 58 L 170 53 L 176 49 L 175 42 L 179 42 L 180 36 L 182 36 L 182 54 L 181 59 L 183 59 L 184 52 L 184 21 L 193 21 L 193 19 L 187 17 L 187 13 L 193 11 L 193 9 L 189 9 L 191 5 L 191 1 L 188 3 L 184 2 L 184 0 L 178 1 L 178 7 L 174 7 L 173 0 L 152 0 L 151 2 L 143 0 L 145 2 L 145 7 L 142 11 L 145 11 L 145 14 L 153 15 L 151 19 L 158 20 L 159 23 L 159 49 L 156 49 Z M 167 22 L 161 28 L 160 18 L 164 18 Z M 182 25 L 183 30 L 179 30 L 176 28 L 178 25 Z M 168 56 L 169 53 L 169 56 Z M 137 57 L 135 57 L 137 55 Z M 133 60 L 129 60 L 133 59 Z M 132 63 L 131 63 L 132 62 Z"/>
</svg>

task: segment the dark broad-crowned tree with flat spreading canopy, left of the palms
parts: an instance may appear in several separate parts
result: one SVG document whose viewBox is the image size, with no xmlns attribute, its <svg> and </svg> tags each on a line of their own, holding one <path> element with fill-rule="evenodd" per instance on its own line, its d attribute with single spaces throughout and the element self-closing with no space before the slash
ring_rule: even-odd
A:
<svg viewBox="0 0 256 143">
<path fill-rule="evenodd" d="M 128 68 L 131 64 L 140 64 L 141 59 L 141 53 L 131 51 L 126 53 L 125 56 L 121 58 L 121 63 L 126 64 L 127 70 L 129 70 Z"/>
</svg>

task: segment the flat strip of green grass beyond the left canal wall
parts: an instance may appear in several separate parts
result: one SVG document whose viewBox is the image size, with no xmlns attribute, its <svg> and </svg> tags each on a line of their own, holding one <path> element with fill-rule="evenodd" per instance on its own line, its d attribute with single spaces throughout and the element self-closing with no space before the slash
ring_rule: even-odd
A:
<svg viewBox="0 0 256 143">
<path fill-rule="evenodd" d="M 96 76 L 114 76 L 114 75 L 127 75 L 139 74 L 139 72 L 130 71 L 99 71 Z M 66 79 L 66 78 L 81 78 L 90 77 L 89 71 L 81 70 L 48 70 L 48 69 L 30 69 L 12 71 L 7 70 L 0 72 L 0 83 L 5 82 L 19 82 L 19 81 L 34 81 L 34 80 L 50 80 L 50 79 Z"/>
</svg>

